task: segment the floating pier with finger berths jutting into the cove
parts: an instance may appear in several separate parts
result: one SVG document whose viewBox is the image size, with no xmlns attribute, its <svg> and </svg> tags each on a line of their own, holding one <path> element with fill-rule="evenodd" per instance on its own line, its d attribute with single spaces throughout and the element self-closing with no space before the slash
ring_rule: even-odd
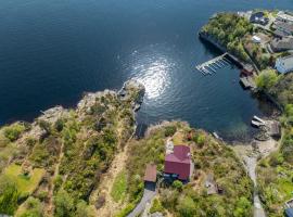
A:
<svg viewBox="0 0 293 217">
<path fill-rule="evenodd" d="M 226 58 L 227 54 L 228 53 L 224 53 L 222 55 L 219 55 L 209 61 L 206 61 L 205 63 L 196 65 L 195 68 L 203 75 L 212 75 L 213 73 L 216 73 L 217 69 L 231 64 L 231 62 Z"/>
</svg>

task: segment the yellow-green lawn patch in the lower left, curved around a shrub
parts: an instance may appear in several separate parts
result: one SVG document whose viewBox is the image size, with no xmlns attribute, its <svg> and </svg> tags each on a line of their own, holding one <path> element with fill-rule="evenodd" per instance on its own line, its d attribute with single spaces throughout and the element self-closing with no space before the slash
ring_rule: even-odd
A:
<svg viewBox="0 0 293 217">
<path fill-rule="evenodd" d="M 30 173 L 30 176 L 24 176 L 22 174 L 22 167 L 12 164 L 4 170 L 4 175 L 15 180 L 21 193 L 31 193 L 41 181 L 41 178 L 44 175 L 44 169 L 35 168 Z"/>
</svg>

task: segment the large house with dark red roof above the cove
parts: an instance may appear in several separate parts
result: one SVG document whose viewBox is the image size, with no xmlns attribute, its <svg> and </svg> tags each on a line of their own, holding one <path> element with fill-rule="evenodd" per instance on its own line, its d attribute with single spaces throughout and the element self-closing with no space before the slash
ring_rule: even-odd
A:
<svg viewBox="0 0 293 217">
<path fill-rule="evenodd" d="M 179 179 L 187 180 L 190 176 L 190 148 L 187 145 L 175 145 L 174 153 L 165 157 L 165 174 L 176 174 Z"/>
</svg>

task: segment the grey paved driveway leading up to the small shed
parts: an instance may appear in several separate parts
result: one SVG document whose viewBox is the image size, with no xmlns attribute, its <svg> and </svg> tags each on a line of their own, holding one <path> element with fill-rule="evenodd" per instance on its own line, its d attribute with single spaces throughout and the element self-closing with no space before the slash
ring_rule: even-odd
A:
<svg viewBox="0 0 293 217">
<path fill-rule="evenodd" d="M 143 196 L 137 207 L 127 216 L 127 217 L 137 217 L 139 214 L 143 212 L 148 202 L 151 202 L 155 196 L 155 186 L 154 184 L 145 184 Z"/>
</svg>

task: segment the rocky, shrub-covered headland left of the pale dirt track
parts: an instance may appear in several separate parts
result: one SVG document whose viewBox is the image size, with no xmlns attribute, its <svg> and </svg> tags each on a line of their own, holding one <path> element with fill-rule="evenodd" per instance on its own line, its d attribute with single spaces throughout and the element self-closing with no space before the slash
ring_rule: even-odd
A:
<svg viewBox="0 0 293 217">
<path fill-rule="evenodd" d="M 135 130 L 143 95 L 133 81 L 120 94 L 89 93 L 76 110 L 51 108 L 33 124 L 0 129 L 0 214 L 97 216 L 88 201 Z"/>
</svg>

